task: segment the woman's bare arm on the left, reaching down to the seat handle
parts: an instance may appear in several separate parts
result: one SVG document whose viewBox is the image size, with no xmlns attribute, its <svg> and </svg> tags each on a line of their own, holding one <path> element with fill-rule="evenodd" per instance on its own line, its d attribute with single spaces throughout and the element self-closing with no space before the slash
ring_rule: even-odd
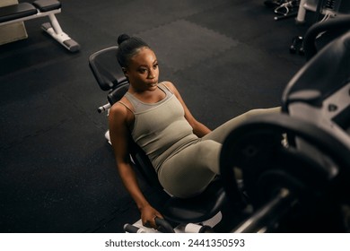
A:
<svg viewBox="0 0 350 251">
<path fill-rule="evenodd" d="M 109 136 L 116 157 L 119 175 L 127 192 L 134 199 L 137 208 L 141 212 L 144 226 L 156 229 L 155 217 L 162 218 L 162 214 L 156 211 L 145 199 L 140 186 L 138 186 L 136 173 L 131 167 L 129 158 L 129 130 L 127 128 L 127 108 L 121 104 L 115 104 L 109 110 Z"/>
</svg>

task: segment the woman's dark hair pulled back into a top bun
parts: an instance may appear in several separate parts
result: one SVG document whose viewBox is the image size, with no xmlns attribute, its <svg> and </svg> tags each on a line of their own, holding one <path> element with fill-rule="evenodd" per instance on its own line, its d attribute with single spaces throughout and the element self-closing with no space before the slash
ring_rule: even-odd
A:
<svg viewBox="0 0 350 251">
<path fill-rule="evenodd" d="M 150 48 L 143 39 L 129 37 L 127 34 L 118 36 L 117 59 L 121 67 L 127 67 L 132 56 L 136 55 L 141 48 Z"/>
</svg>

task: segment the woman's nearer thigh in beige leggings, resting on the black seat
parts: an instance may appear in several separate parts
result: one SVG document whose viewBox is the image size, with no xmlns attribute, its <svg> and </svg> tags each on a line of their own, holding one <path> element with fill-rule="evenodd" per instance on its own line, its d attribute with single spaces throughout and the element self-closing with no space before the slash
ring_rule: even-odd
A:
<svg viewBox="0 0 350 251">
<path fill-rule="evenodd" d="M 202 141 L 164 161 L 158 172 L 164 189 L 178 197 L 201 193 L 218 174 L 221 147 L 214 141 Z"/>
</svg>

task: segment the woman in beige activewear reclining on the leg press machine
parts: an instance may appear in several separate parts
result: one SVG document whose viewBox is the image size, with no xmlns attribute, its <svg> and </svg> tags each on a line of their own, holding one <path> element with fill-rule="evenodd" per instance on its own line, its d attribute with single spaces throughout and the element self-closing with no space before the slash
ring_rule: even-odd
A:
<svg viewBox="0 0 350 251">
<path fill-rule="evenodd" d="M 225 136 L 247 117 L 279 108 L 251 110 L 212 132 L 192 116 L 171 82 L 158 82 L 157 58 L 142 39 L 120 35 L 117 58 L 130 85 L 126 95 L 110 108 L 110 141 L 118 172 L 143 224 L 156 228 L 154 218 L 162 218 L 162 214 L 147 202 L 137 185 L 129 163 L 130 136 L 152 161 L 164 189 L 171 195 L 191 197 L 219 174 Z"/>
</svg>

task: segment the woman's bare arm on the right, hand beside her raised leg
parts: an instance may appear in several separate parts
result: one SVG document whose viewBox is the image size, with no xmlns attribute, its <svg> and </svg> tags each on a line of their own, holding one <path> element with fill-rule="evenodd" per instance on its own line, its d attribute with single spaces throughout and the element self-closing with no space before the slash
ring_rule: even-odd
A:
<svg viewBox="0 0 350 251">
<path fill-rule="evenodd" d="M 189 111 L 188 107 L 185 104 L 185 101 L 182 100 L 181 95 L 179 94 L 179 91 L 176 89 L 176 87 L 171 82 L 165 82 L 166 86 L 174 93 L 176 98 L 178 98 L 179 102 L 181 103 L 184 111 L 185 111 L 185 118 L 188 120 L 189 125 L 193 128 L 193 133 L 196 134 L 199 138 L 203 137 L 204 135 L 211 132 L 211 130 L 206 127 L 206 125 L 203 125 Z"/>
</svg>

